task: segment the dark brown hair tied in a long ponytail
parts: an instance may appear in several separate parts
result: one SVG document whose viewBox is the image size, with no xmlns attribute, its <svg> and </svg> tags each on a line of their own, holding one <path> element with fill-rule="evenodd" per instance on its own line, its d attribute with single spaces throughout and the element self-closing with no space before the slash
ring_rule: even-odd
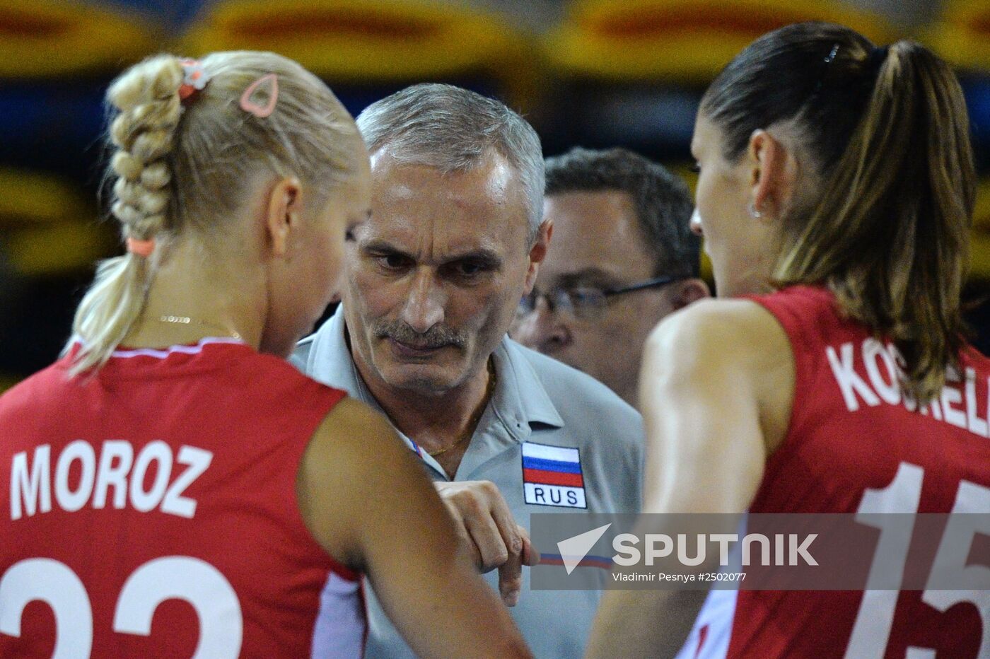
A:
<svg viewBox="0 0 990 659">
<path fill-rule="evenodd" d="M 959 83 L 925 47 L 879 49 L 839 26 L 789 26 L 749 48 L 760 42 L 761 53 L 743 51 L 720 75 L 702 112 L 723 127 L 727 155 L 743 135 L 794 120 L 817 159 L 820 197 L 782 218 L 774 284 L 829 286 L 849 317 L 904 355 L 907 393 L 931 401 L 964 340 L 959 299 L 976 177 Z M 808 66 L 794 68 L 802 53 Z M 777 117 L 750 114 L 739 93 L 732 102 L 756 69 L 779 87 L 794 82 L 778 94 L 793 100 Z"/>
</svg>

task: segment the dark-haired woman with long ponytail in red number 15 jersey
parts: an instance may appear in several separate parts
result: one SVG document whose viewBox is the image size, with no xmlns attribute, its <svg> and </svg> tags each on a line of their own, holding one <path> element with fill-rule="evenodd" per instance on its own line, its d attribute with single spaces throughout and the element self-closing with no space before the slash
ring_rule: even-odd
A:
<svg viewBox="0 0 990 659">
<path fill-rule="evenodd" d="M 721 299 L 647 343 L 644 512 L 990 513 L 990 361 L 959 309 L 975 175 L 949 66 L 788 26 L 712 83 L 691 148 Z M 990 656 L 988 574 L 969 569 L 970 591 L 720 591 L 690 656 Z M 589 656 L 673 656 L 705 595 L 609 593 Z"/>
</svg>

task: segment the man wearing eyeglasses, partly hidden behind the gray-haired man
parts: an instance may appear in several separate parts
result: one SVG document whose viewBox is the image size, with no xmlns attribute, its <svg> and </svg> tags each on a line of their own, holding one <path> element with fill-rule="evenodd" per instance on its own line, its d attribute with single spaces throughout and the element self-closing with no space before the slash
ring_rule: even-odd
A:
<svg viewBox="0 0 990 659">
<path fill-rule="evenodd" d="M 638 402 L 646 335 L 709 295 L 698 278 L 687 186 L 623 148 L 574 148 L 546 160 L 553 240 L 512 337 Z"/>
</svg>

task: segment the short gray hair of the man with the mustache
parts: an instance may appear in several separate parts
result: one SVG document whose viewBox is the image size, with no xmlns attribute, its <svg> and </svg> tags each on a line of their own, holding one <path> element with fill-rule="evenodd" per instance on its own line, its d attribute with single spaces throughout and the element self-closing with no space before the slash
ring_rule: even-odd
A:
<svg viewBox="0 0 990 659">
<path fill-rule="evenodd" d="M 530 241 L 544 215 L 544 154 L 540 136 L 505 104 L 439 83 L 424 83 L 372 103 L 357 128 L 374 153 L 443 172 L 472 169 L 492 149 L 515 168 L 526 195 Z"/>
</svg>

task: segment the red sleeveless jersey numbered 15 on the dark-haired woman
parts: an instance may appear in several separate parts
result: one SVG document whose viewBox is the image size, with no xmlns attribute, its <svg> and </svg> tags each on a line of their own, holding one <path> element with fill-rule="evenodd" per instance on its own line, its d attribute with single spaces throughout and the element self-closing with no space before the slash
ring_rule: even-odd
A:
<svg viewBox="0 0 990 659">
<path fill-rule="evenodd" d="M 787 436 L 766 462 L 750 513 L 990 513 L 990 360 L 967 348 L 960 377 L 919 409 L 897 387 L 896 349 L 843 320 L 829 291 L 796 286 L 752 299 L 785 329 L 796 384 Z M 727 595 L 735 612 L 723 602 L 715 626 L 731 628 L 711 631 L 729 632 L 730 657 L 990 656 L 986 591 L 716 598 Z"/>
</svg>

